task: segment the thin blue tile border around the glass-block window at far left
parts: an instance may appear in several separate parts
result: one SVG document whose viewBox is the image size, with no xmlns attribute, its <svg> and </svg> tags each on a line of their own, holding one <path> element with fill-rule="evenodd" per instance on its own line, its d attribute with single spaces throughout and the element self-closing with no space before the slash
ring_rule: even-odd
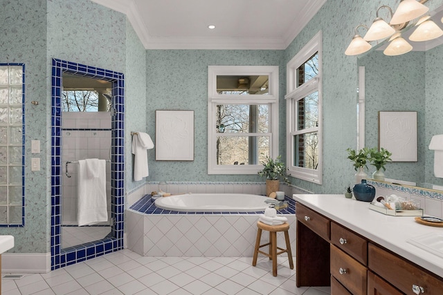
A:
<svg viewBox="0 0 443 295">
<path fill-rule="evenodd" d="M 3 224 L 0 227 L 24 227 L 25 226 L 25 64 L 24 63 L 0 63 L 0 66 L 21 66 L 21 223 Z"/>
</svg>

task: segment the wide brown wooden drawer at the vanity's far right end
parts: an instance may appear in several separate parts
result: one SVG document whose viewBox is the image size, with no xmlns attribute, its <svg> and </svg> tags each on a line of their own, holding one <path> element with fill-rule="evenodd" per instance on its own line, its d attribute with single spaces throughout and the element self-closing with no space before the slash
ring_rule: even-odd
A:
<svg viewBox="0 0 443 295">
<path fill-rule="evenodd" d="M 423 288 L 422 293 L 426 295 L 443 294 L 442 278 L 371 243 L 368 246 L 368 265 L 372 271 L 406 294 L 414 294 L 413 288 L 418 288 L 418 292 Z"/>
</svg>

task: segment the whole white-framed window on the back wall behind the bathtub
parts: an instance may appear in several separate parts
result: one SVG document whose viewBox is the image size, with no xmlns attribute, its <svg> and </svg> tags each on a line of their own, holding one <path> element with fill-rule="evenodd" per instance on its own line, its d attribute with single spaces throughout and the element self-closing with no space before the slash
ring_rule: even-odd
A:
<svg viewBox="0 0 443 295">
<path fill-rule="evenodd" d="M 256 174 L 278 155 L 278 66 L 208 72 L 208 173 Z"/>
</svg>

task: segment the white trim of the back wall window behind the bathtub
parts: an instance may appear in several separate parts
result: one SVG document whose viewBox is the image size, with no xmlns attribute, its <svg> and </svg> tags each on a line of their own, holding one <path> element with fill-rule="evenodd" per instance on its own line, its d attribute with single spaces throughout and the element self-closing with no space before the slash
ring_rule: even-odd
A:
<svg viewBox="0 0 443 295">
<path fill-rule="evenodd" d="M 217 75 L 267 75 L 269 76 L 268 95 L 245 95 L 241 104 L 269 104 L 270 133 L 251 133 L 269 135 L 271 158 L 278 156 L 278 66 L 208 66 L 208 174 L 257 174 L 263 169 L 257 165 L 217 165 L 217 134 L 215 132 L 217 104 L 238 104 L 238 95 L 217 93 Z"/>
</svg>

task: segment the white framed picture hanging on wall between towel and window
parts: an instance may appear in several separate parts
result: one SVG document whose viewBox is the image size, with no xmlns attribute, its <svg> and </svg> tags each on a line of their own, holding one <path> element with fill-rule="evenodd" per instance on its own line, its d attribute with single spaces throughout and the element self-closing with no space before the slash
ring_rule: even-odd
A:
<svg viewBox="0 0 443 295">
<path fill-rule="evenodd" d="M 155 111 L 155 160 L 194 160 L 194 111 Z"/>
</svg>

